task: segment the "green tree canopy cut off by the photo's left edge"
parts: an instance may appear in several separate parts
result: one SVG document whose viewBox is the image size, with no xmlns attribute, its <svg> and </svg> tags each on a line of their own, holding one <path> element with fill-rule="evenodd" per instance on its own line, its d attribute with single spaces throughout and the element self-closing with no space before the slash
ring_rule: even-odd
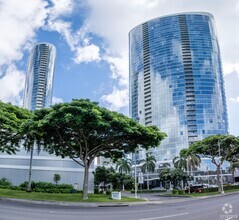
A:
<svg viewBox="0 0 239 220">
<path fill-rule="evenodd" d="M 13 154 L 22 140 L 21 125 L 32 117 L 27 109 L 0 101 L 0 152 Z"/>
</svg>

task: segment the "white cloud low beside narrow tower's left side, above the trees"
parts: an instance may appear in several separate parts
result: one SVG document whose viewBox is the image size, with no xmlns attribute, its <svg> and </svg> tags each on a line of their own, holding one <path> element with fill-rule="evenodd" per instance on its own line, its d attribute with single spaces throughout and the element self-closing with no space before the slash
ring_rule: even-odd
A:
<svg viewBox="0 0 239 220">
<path fill-rule="evenodd" d="M 0 80 L 0 100 L 21 106 L 22 97 L 20 96 L 20 92 L 24 88 L 24 83 L 25 74 L 17 70 L 14 65 L 10 65 Z"/>
</svg>

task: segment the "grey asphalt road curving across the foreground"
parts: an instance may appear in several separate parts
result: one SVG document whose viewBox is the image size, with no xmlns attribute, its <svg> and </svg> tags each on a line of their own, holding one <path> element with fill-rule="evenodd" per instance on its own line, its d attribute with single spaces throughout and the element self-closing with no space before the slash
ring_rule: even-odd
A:
<svg viewBox="0 0 239 220">
<path fill-rule="evenodd" d="M 224 208 L 223 208 L 224 207 Z M 127 207 L 68 207 L 0 200 L 0 220 L 239 219 L 239 194 Z"/>
</svg>

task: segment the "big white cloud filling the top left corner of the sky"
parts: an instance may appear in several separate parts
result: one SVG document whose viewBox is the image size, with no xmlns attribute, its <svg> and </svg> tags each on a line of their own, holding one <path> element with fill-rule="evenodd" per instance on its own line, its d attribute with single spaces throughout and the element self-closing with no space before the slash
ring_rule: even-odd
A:
<svg viewBox="0 0 239 220">
<path fill-rule="evenodd" d="M 40 0 L 0 0 L 0 65 L 10 64 L 22 57 L 21 48 L 44 25 L 47 3 Z"/>
</svg>

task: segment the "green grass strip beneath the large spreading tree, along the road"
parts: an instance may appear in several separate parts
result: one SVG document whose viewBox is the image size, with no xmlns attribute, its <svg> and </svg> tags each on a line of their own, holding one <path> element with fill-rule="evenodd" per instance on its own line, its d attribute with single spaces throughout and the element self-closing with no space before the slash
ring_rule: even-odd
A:
<svg viewBox="0 0 239 220">
<path fill-rule="evenodd" d="M 30 200 L 47 200 L 63 202 L 140 202 L 142 199 L 122 197 L 121 200 L 110 199 L 110 196 L 104 194 L 88 194 L 88 200 L 82 200 L 80 193 L 60 194 L 60 193 L 38 193 L 25 191 L 0 189 L 0 197 Z"/>
</svg>

